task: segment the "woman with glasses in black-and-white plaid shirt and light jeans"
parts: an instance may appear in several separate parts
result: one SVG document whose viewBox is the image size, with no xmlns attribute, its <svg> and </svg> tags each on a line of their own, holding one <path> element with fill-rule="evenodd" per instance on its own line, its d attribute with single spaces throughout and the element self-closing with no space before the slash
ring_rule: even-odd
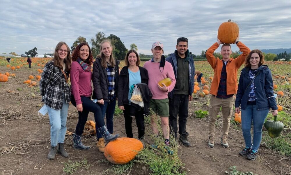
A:
<svg viewBox="0 0 291 175">
<path fill-rule="evenodd" d="M 51 160 L 55 158 L 56 152 L 63 157 L 70 156 L 64 149 L 64 140 L 71 100 L 68 85 L 71 60 L 69 46 L 65 42 L 59 42 L 54 51 L 54 58 L 45 64 L 40 78 L 42 102 L 47 106 L 51 126 L 51 150 L 47 155 L 47 158 Z"/>
</svg>

